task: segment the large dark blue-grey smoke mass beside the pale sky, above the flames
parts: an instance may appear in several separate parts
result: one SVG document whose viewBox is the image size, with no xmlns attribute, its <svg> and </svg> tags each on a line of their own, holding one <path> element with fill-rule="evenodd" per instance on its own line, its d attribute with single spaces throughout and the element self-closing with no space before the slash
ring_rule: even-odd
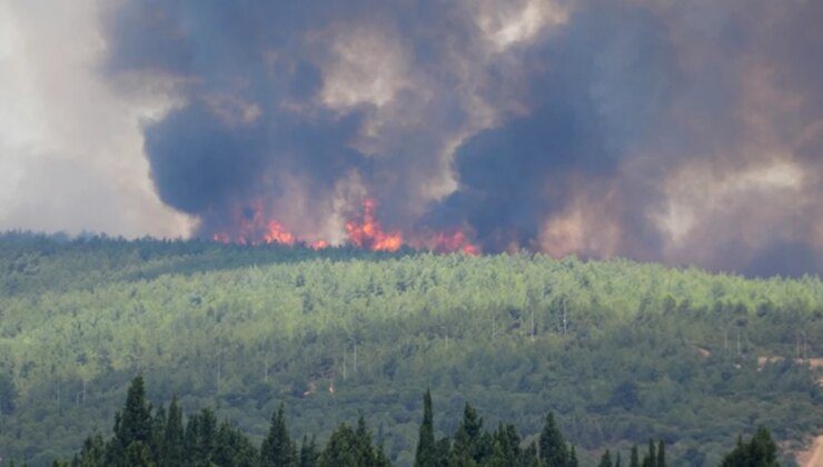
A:
<svg viewBox="0 0 823 467">
<path fill-rule="evenodd" d="M 299 180 L 315 205 L 303 216 L 327 216 L 336 183 L 351 173 L 390 222 L 408 227 L 425 197 L 420 186 L 443 173 L 443 148 L 467 119 L 453 97 L 462 77 L 449 56 L 470 49 L 476 32 L 459 11 L 440 1 L 128 2 L 105 18 L 106 72 L 123 86 L 135 76 L 177 83 L 184 105 L 147 126 L 146 152 L 161 198 L 208 218 L 206 230 L 220 217 L 232 222 L 228 211 L 257 197 L 288 203 L 286 178 Z M 391 50 L 381 49 L 384 38 Z M 363 60 L 376 50 L 378 68 L 401 51 L 405 68 L 387 77 L 410 70 L 423 82 L 390 89 L 388 101 L 357 96 L 367 87 L 335 95 L 341 85 L 324 73 L 341 74 L 345 87 L 369 79 L 347 72 L 380 71 L 346 69 L 340 49 L 350 43 L 366 47 L 355 57 Z M 326 85 L 331 90 L 320 96 Z"/>
</svg>

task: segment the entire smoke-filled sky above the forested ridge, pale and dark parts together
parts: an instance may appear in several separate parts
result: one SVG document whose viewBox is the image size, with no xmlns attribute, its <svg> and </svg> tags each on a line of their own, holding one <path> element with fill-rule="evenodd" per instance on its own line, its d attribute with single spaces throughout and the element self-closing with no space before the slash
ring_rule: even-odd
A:
<svg viewBox="0 0 823 467">
<path fill-rule="evenodd" d="M 823 272 L 817 0 L 0 2 L 0 229 Z"/>
</svg>

